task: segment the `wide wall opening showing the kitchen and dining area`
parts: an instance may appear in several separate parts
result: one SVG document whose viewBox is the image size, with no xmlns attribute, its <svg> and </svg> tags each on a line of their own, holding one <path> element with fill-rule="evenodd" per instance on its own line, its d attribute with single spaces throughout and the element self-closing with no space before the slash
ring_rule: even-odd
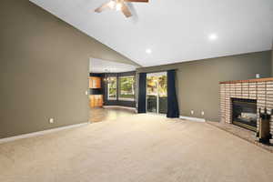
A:
<svg viewBox="0 0 273 182">
<path fill-rule="evenodd" d="M 90 122 L 136 113 L 136 66 L 90 58 L 88 79 Z"/>
</svg>

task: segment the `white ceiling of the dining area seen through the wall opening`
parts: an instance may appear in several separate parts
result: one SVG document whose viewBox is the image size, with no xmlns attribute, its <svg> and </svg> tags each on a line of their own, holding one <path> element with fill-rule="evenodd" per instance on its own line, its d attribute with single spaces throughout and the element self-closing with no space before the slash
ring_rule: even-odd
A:
<svg viewBox="0 0 273 182">
<path fill-rule="evenodd" d="M 91 58 L 89 64 L 90 73 L 122 73 L 135 71 L 136 66 Z"/>
</svg>

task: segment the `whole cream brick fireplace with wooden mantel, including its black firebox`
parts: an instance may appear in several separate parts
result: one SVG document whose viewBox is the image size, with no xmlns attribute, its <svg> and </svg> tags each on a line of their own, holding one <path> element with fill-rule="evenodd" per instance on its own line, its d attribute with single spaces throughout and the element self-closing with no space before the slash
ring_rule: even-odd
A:
<svg viewBox="0 0 273 182">
<path fill-rule="evenodd" d="M 235 106 L 237 110 L 234 110 Z M 264 112 L 265 107 L 268 114 L 273 109 L 273 78 L 220 82 L 221 122 L 258 131 L 258 109 Z M 273 116 L 271 118 L 270 133 L 273 136 Z"/>
</svg>

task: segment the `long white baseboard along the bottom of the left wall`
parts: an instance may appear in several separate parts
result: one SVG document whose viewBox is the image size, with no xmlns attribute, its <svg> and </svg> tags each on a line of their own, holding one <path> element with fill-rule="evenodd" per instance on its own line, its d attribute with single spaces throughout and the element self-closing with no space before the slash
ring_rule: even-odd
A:
<svg viewBox="0 0 273 182">
<path fill-rule="evenodd" d="M 74 128 L 74 127 L 79 127 L 79 126 L 86 126 L 88 124 L 90 124 L 90 123 L 86 122 L 86 123 L 80 123 L 80 124 L 76 124 L 76 125 L 61 126 L 61 127 L 56 127 L 56 128 L 53 128 L 53 129 L 46 129 L 46 130 L 43 130 L 43 131 L 37 131 L 37 132 L 34 132 L 34 133 L 24 134 L 24 135 L 20 135 L 20 136 L 5 137 L 5 138 L 0 139 L 0 144 L 15 141 L 15 140 L 18 140 L 18 139 L 27 138 L 27 137 L 43 136 L 45 134 L 54 133 L 56 131 L 61 131 L 61 130 L 70 129 L 70 128 Z"/>
</svg>

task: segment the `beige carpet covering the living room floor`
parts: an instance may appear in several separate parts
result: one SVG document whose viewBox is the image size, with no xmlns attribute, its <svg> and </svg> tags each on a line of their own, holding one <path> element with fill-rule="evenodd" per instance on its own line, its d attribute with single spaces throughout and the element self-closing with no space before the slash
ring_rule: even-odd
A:
<svg viewBox="0 0 273 182">
<path fill-rule="evenodd" d="M 0 145 L 1 182 L 269 182 L 273 155 L 206 123 L 136 115 Z"/>
</svg>

